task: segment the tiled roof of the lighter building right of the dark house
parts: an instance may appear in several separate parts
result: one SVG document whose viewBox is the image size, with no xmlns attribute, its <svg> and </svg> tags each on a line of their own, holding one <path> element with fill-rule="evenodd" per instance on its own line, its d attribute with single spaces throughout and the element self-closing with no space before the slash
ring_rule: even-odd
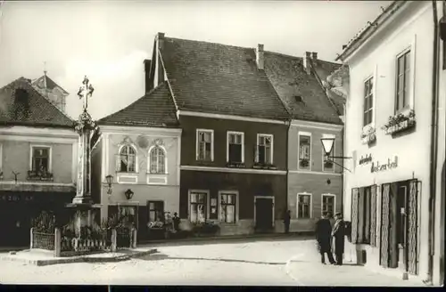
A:
<svg viewBox="0 0 446 292">
<path fill-rule="evenodd" d="M 326 61 L 312 64 L 321 81 L 341 66 Z M 303 68 L 303 58 L 265 52 L 265 72 L 294 119 L 342 124 L 318 76 L 307 74 Z"/>
</svg>

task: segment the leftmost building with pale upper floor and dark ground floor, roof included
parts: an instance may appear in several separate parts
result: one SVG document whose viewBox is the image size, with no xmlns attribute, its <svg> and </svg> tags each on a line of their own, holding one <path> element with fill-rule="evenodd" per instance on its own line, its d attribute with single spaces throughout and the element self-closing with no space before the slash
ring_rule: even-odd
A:
<svg viewBox="0 0 446 292">
<path fill-rule="evenodd" d="M 31 220 L 61 215 L 75 196 L 78 134 L 73 121 L 23 77 L 0 89 L 1 244 L 29 244 Z"/>
</svg>

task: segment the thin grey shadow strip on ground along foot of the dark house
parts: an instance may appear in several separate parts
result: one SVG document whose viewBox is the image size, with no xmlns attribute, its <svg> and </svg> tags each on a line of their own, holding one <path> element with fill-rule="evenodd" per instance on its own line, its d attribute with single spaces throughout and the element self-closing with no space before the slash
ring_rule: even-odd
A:
<svg viewBox="0 0 446 292">
<path fill-rule="evenodd" d="M 197 238 L 188 240 L 178 240 L 178 241 L 146 241 L 138 244 L 138 247 L 178 247 L 178 246 L 201 246 L 210 244 L 234 244 L 234 243 L 248 243 L 248 242 L 275 242 L 275 241 L 301 241 L 301 240 L 311 240 L 314 236 L 311 235 L 283 235 L 277 236 L 275 238 L 236 238 L 236 239 L 202 239 Z"/>
</svg>

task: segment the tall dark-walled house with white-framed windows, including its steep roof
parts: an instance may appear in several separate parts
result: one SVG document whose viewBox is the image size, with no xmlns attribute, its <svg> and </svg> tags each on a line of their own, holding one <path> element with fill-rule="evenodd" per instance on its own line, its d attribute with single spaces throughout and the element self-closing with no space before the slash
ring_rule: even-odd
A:
<svg viewBox="0 0 446 292">
<path fill-rule="evenodd" d="M 166 81 L 181 134 L 179 216 L 219 234 L 283 230 L 288 113 L 257 49 L 164 37 L 147 80 Z"/>
</svg>

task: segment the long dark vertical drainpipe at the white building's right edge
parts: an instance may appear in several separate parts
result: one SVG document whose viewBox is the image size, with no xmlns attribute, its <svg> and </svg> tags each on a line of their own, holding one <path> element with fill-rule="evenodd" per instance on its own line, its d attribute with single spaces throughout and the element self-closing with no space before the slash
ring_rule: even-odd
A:
<svg viewBox="0 0 446 292">
<path fill-rule="evenodd" d="M 438 140 L 438 83 L 439 83 L 439 35 L 437 1 L 432 1 L 434 13 L 434 55 L 433 55 L 433 78 L 432 78 L 432 113 L 431 113 L 431 153 L 430 153 L 430 192 L 429 192 L 429 257 L 427 282 L 432 284 L 434 273 L 434 239 L 435 239 L 435 191 L 436 191 L 436 168 L 437 168 L 437 140 Z"/>
</svg>

